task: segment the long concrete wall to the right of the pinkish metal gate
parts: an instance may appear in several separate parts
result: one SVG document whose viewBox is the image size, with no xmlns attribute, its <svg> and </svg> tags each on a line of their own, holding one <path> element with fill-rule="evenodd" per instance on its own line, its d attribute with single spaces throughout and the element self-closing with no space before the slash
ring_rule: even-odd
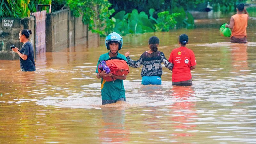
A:
<svg viewBox="0 0 256 144">
<path fill-rule="evenodd" d="M 67 47 L 84 44 L 88 47 L 88 39 L 99 45 L 99 36 L 88 32 L 88 26 L 82 22 L 82 16 L 75 18 L 70 10 L 61 10 L 47 14 L 46 18 L 46 51 L 56 52 Z M 95 41 L 96 40 L 96 41 Z"/>
</svg>

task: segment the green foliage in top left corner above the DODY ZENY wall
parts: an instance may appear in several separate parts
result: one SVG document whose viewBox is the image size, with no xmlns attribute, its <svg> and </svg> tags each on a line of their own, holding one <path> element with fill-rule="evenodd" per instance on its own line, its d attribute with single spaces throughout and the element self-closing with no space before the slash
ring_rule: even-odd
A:
<svg viewBox="0 0 256 144">
<path fill-rule="evenodd" d="M 30 15 L 28 8 L 30 0 L 2 0 L 0 17 L 24 18 Z"/>
</svg>

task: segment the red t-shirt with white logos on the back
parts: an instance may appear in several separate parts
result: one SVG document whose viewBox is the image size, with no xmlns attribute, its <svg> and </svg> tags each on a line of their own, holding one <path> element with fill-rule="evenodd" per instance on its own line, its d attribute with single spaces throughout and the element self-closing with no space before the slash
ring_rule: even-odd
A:
<svg viewBox="0 0 256 144">
<path fill-rule="evenodd" d="M 172 82 L 187 81 L 192 78 L 190 67 L 196 65 L 194 52 L 186 47 L 172 50 L 169 62 L 173 63 Z"/>
</svg>

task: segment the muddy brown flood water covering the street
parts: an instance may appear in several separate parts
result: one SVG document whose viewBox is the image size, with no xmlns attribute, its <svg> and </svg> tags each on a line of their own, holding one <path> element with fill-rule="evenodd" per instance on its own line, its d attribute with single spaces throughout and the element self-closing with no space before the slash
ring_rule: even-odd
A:
<svg viewBox="0 0 256 144">
<path fill-rule="evenodd" d="M 231 44 L 219 27 L 229 19 L 197 20 L 193 30 L 123 36 L 120 51 L 137 60 L 148 38 L 160 39 L 169 58 L 178 35 L 195 53 L 193 85 L 141 85 L 141 68 L 124 81 L 132 107 L 99 108 L 96 64 L 107 50 L 78 45 L 36 58 L 36 72 L 19 60 L 0 60 L 0 143 L 256 143 L 256 31 L 250 19 L 247 44 Z M 93 42 L 90 42 L 93 45 Z"/>
</svg>

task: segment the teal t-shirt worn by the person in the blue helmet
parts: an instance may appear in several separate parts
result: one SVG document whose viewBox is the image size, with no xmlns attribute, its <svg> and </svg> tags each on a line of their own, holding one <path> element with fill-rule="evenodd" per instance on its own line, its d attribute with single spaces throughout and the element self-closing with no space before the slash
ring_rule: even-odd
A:
<svg viewBox="0 0 256 144">
<path fill-rule="evenodd" d="M 108 60 L 110 58 L 108 53 L 102 54 L 100 56 L 96 68 L 96 73 L 98 73 L 98 65 L 100 64 L 100 62 L 102 60 Z M 127 61 L 126 57 L 120 53 L 118 53 L 116 57 L 122 58 Z M 106 82 L 105 80 L 103 80 L 103 78 L 101 78 L 101 97 L 102 100 L 118 100 L 120 98 L 125 99 L 123 80 L 116 79 L 113 83 L 113 81 Z"/>
</svg>

